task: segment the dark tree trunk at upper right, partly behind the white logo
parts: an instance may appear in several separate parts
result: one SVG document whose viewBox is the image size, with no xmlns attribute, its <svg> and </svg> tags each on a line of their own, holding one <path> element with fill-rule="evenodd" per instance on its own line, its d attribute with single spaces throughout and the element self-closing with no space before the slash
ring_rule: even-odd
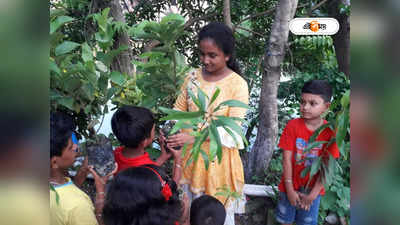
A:
<svg viewBox="0 0 400 225">
<path fill-rule="evenodd" d="M 350 76 L 350 17 L 346 13 L 340 13 L 339 5 L 350 6 L 350 0 L 333 0 L 328 8 L 329 16 L 339 22 L 339 31 L 332 36 L 335 46 L 336 59 L 339 71 Z"/>
</svg>

